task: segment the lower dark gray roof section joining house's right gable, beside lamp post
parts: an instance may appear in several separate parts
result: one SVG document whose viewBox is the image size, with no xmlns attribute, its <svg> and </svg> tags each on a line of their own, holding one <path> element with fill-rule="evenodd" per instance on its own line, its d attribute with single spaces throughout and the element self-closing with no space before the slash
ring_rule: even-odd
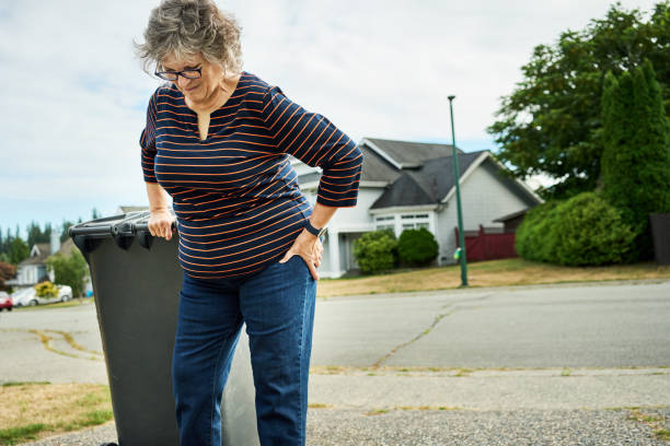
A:
<svg viewBox="0 0 670 446">
<path fill-rule="evenodd" d="M 459 174 L 463 176 L 484 152 L 461 152 Z M 442 156 L 426 161 L 418 169 L 403 169 L 400 177 L 384 190 L 370 209 L 438 203 L 455 185 L 452 161 L 452 156 Z"/>
</svg>

